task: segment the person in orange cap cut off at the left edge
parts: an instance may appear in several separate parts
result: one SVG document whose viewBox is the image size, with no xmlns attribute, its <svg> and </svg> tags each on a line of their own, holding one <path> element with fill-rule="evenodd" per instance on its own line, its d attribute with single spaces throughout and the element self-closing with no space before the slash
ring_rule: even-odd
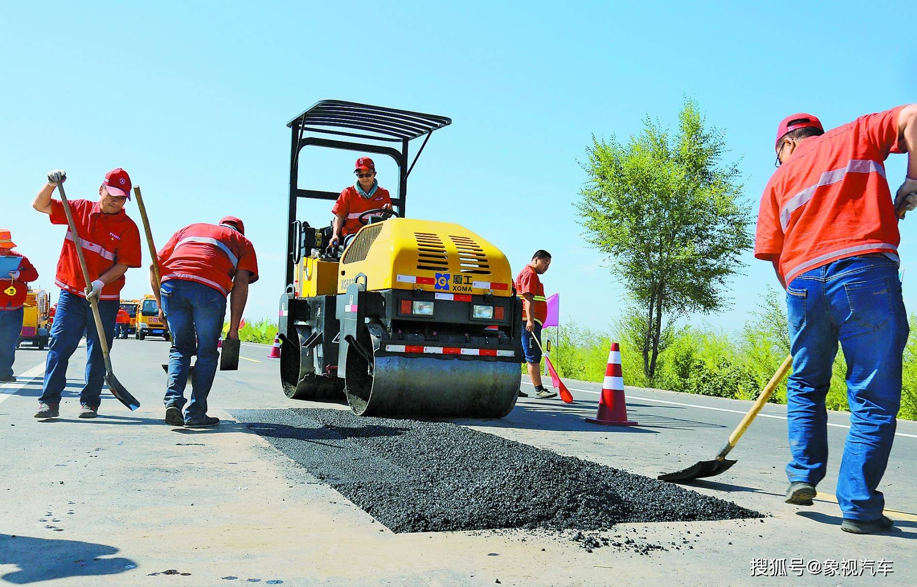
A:
<svg viewBox="0 0 917 587">
<path fill-rule="evenodd" d="M 0 382 L 15 382 L 13 360 L 22 330 L 22 305 L 26 301 L 26 283 L 39 279 L 25 255 L 13 250 L 16 243 L 6 228 L 0 228 L 0 260 L 16 264 L 15 269 L 6 269 L 0 274 Z"/>
</svg>

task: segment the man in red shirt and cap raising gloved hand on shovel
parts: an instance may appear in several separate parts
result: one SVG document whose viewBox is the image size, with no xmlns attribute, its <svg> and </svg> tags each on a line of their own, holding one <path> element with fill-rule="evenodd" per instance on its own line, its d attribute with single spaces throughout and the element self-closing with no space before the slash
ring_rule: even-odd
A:
<svg viewBox="0 0 917 587">
<path fill-rule="evenodd" d="M 51 198 L 54 189 L 67 179 L 67 173 L 55 170 L 48 174 L 48 183 L 35 196 L 32 207 L 50 216 L 51 224 L 67 225 L 60 200 Z M 73 351 L 86 334 L 85 385 L 80 392 L 80 417 L 94 418 L 101 403 L 105 361 L 95 328 L 93 311 L 86 299 L 87 289 L 98 300 L 103 331 L 111 348 L 115 333 L 115 316 L 124 287 L 128 267 L 140 266 L 140 233 L 137 225 L 124 211 L 130 199 L 130 177 L 123 169 L 105 174 L 99 186 L 99 200 L 68 200 L 73 222 L 79 235 L 70 230 L 63 241 L 58 260 L 55 283 L 61 288 L 54 324 L 50 331 L 48 359 L 45 364 L 44 389 L 39 398 L 37 418 L 59 415 L 61 392 L 67 382 L 67 364 Z M 83 270 L 76 254 L 74 238 L 81 238 L 83 257 L 93 280 L 86 288 Z"/>
</svg>

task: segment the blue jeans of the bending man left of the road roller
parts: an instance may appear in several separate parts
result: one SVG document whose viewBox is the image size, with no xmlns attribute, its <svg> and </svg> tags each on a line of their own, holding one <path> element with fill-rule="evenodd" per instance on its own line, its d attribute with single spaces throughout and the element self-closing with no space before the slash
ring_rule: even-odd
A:
<svg viewBox="0 0 917 587">
<path fill-rule="evenodd" d="M 172 338 L 169 385 L 163 400 L 166 407 L 182 409 L 191 358 L 197 355 L 191 376 L 191 403 L 184 412 L 184 421 L 190 422 L 207 415 L 207 395 L 216 374 L 216 344 L 223 331 L 226 296 L 203 283 L 181 279 L 163 282 L 160 294 Z"/>
</svg>

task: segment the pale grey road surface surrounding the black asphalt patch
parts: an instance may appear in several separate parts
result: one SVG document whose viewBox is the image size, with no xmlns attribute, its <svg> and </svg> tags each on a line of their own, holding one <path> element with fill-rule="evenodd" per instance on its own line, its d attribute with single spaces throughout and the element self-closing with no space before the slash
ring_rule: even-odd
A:
<svg viewBox="0 0 917 587">
<path fill-rule="evenodd" d="M 763 521 L 622 525 L 604 533 L 668 548 L 648 555 L 619 548 L 588 553 L 569 535 L 522 530 L 396 535 L 297 471 L 298 465 L 228 414 L 237 408 L 327 407 L 282 394 L 278 360 L 266 358 L 267 346 L 243 344 L 239 371 L 217 374 L 210 414 L 224 422 L 204 430 L 161 420 L 160 363 L 168 349 L 156 338 L 117 340 L 116 374 L 142 406 L 128 412 L 104 393 L 95 420 L 76 418 L 84 366 L 84 349 L 78 350 L 61 417 L 48 421 L 32 417 L 45 352 L 17 352 L 20 381 L 0 384 L 0 583 L 915 583 L 913 422 L 899 423 L 882 483 L 887 514 L 898 520 L 883 535 L 858 537 L 838 527 L 834 476 L 845 414 L 830 415 L 832 463 L 815 505 L 783 503 L 789 449 L 779 405 L 768 405 L 746 433 L 731 455 L 738 463 L 730 471 L 693 484 L 698 492 L 768 514 Z M 568 384 L 574 404 L 523 399 L 501 420 L 458 422 L 655 477 L 712 459 L 749 405 L 629 388 L 629 415 L 640 426 L 594 426 L 583 416 L 595 414 L 599 386 Z"/>
</svg>

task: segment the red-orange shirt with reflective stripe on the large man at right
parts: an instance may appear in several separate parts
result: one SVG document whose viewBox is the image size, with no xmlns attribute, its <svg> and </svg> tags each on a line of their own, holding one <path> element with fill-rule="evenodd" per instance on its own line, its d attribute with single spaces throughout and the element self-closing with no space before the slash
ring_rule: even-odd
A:
<svg viewBox="0 0 917 587">
<path fill-rule="evenodd" d="M 804 139 L 770 178 L 757 216 L 755 256 L 779 260 L 787 283 L 828 263 L 881 252 L 897 259 L 884 161 L 901 152 L 901 108 L 860 116 Z"/>
</svg>

